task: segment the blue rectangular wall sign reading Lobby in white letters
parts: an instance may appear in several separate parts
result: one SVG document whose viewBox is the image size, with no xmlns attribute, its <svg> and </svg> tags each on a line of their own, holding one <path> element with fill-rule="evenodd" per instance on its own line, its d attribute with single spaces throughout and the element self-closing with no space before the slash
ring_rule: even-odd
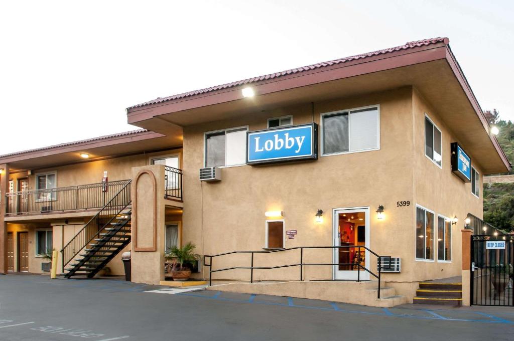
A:
<svg viewBox="0 0 514 341">
<path fill-rule="evenodd" d="M 247 164 L 318 158 L 316 123 L 249 131 L 246 137 Z"/>
</svg>

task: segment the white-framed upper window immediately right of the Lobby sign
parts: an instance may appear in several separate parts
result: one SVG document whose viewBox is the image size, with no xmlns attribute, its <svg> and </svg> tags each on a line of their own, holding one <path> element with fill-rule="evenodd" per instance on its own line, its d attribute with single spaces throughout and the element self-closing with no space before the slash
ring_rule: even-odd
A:
<svg viewBox="0 0 514 341">
<path fill-rule="evenodd" d="M 379 148 L 378 107 L 326 113 L 322 116 L 322 154 L 352 153 Z"/>
</svg>

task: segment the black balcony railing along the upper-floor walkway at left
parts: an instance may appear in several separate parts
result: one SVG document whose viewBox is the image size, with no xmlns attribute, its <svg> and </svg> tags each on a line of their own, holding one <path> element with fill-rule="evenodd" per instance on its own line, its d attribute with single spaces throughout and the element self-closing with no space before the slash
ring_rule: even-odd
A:
<svg viewBox="0 0 514 341">
<path fill-rule="evenodd" d="M 101 209 L 131 180 L 7 193 L 7 215 Z"/>
</svg>

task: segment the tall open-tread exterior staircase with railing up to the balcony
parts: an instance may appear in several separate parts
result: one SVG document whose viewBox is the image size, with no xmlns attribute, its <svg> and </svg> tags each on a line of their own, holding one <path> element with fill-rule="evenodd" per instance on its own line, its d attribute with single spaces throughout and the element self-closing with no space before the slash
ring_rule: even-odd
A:
<svg viewBox="0 0 514 341">
<path fill-rule="evenodd" d="M 64 277 L 94 277 L 131 241 L 128 182 L 61 250 Z"/>
</svg>

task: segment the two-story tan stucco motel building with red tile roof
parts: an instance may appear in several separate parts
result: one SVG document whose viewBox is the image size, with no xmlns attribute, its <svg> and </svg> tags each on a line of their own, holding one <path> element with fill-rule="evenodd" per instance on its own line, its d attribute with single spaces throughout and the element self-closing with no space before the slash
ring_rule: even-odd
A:
<svg viewBox="0 0 514 341">
<path fill-rule="evenodd" d="M 382 279 L 410 299 L 420 281 L 460 275 L 461 230 L 466 217 L 482 218 L 483 176 L 510 164 L 448 43 L 158 98 L 127 109 L 128 123 L 145 130 L 1 156 L 10 192 L 2 238 L 14 245 L 1 270 L 7 259 L 26 269 L 16 264 L 28 257 L 28 271 L 40 271 L 49 239 L 68 246 L 65 269 L 91 241 L 87 226 L 96 233 L 117 217 L 132 224 L 119 244 L 132 250 L 136 282 L 163 280 L 164 250 L 187 241 L 201 255 L 277 251 L 207 257 L 213 270 L 237 268 L 215 279 L 249 280 L 241 268 L 251 261 L 299 263 L 299 249 L 279 251 L 298 247 L 326 247 L 302 250 L 303 263 L 339 265 L 255 269 L 252 280 L 372 279 L 376 255 L 391 256 L 401 268 Z M 25 251 L 16 247 L 23 238 Z M 118 257 L 108 263 L 115 274 Z M 193 277 L 209 270 L 200 262 Z"/>
</svg>

